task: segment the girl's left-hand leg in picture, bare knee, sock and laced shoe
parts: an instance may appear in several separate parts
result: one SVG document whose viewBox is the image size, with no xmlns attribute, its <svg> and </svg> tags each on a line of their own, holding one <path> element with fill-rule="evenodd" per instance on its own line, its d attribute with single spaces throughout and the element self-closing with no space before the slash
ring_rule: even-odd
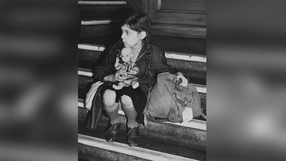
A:
<svg viewBox="0 0 286 161">
<path fill-rule="evenodd" d="M 103 92 L 102 102 L 103 108 L 110 117 L 110 123 L 108 123 L 106 128 L 106 133 L 104 134 L 105 140 L 108 142 L 114 142 L 117 140 L 117 132 L 120 128 L 120 118 L 118 115 L 118 103 L 115 102 L 115 91 L 106 89 Z"/>
</svg>

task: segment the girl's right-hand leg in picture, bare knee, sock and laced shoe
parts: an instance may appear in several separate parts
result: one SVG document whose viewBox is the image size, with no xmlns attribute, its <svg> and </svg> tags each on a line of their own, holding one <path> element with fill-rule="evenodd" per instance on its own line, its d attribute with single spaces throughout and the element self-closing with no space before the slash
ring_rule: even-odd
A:
<svg viewBox="0 0 286 161">
<path fill-rule="evenodd" d="M 127 144 L 129 146 L 137 146 L 139 144 L 139 126 L 135 121 L 137 112 L 134 109 L 132 99 L 129 96 L 121 97 L 122 109 L 127 116 Z"/>
</svg>

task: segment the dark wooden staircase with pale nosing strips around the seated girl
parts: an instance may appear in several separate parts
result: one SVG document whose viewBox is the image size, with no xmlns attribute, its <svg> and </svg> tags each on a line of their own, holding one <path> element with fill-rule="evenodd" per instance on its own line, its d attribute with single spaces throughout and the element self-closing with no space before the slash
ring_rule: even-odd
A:
<svg viewBox="0 0 286 161">
<path fill-rule="evenodd" d="M 169 0 L 78 1 L 81 24 L 78 44 L 79 160 L 206 160 L 206 119 L 202 117 L 186 124 L 147 120 L 147 126 L 140 125 L 140 144 L 137 147 L 129 147 L 126 143 L 126 117 L 121 109 L 120 137 L 116 142 L 104 140 L 109 118 L 103 117 L 95 130 L 86 128 L 88 110 L 84 107 L 84 100 L 94 82 L 92 70 L 102 60 L 107 48 L 120 38 L 118 20 L 122 14 L 131 11 L 149 15 L 152 32 L 155 33 L 151 43 L 165 51 L 169 65 L 190 77 L 189 83 L 197 87 L 201 108 L 206 114 L 205 2 L 180 2 L 177 4 L 175 1 L 177 5 L 171 9 L 167 4 L 174 4 L 174 1 Z M 190 3 L 191 8 L 182 8 L 190 6 Z M 164 20 L 164 16 L 178 13 L 183 19 L 176 22 Z"/>
</svg>

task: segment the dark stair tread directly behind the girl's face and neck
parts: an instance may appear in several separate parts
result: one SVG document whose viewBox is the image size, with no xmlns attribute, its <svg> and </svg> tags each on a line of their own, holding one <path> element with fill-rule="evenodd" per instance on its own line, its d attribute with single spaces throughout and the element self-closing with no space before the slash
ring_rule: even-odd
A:
<svg viewBox="0 0 286 161">
<path fill-rule="evenodd" d="M 104 35 L 91 38 L 82 38 L 80 43 L 109 46 L 119 40 L 119 36 Z M 186 54 L 207 54 L 207 40 L 201 38 L 185 38 L 164 35 L 152 35 L 151 44 L 158 46 L 163 51 L 180 52 Z"/>
</svg>

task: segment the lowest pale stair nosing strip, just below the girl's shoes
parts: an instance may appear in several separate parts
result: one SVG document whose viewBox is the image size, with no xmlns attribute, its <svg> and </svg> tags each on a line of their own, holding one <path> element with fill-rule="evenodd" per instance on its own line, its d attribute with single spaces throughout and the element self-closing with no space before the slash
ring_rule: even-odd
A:
<svg viewBox="0 0 286 161">
<path fill-rule="evenodd" d="M 155 150 L 139 148 L 136 146 L 130 147 L 129 145 L 122 144 L 122 143 L 117 143 L 117 142 L 109 143 L 105 141 L 104 139 L 94 138 L 94 137 L 82 135 L 82 134 L 78 134 L 78 143 L 89 145 L 89 146 L 94 146 L 94 147 L 105 149 L 105 150 L 111 150 L 111 151 L 119 152 L 122 154 L 132 155 L 132 156 L 147 159 L 147 160 L 158 160 L 158 161 L 192 160 L 192 161 L 196 161 L 194 159 L 172 155 L 172 154 L 168 154 L 164 152 L 158 152 Z"/>
</svg>

